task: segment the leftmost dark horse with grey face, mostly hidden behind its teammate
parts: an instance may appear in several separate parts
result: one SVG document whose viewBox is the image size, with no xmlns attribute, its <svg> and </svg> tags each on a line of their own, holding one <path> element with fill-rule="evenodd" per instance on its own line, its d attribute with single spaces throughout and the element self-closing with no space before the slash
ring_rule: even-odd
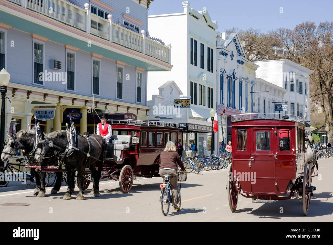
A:
<svg viewBox="0 0 333 245">
<path fill-rule="evenodd" d="M 35 135 L 36 131 L 34 129 L 29 130 L 20 130 L 19 132 L 12 134 L 7 132 L 8 139 L 5 142 L 3 151 L 1 153 L 1 160 L 3 162 L 6 162 L 9 160 L 9 158 L 12 155 L 15 155 L 19 149 L 24 151 L 25 154 L 30 153 L 31 155 L 28 155 L 28 165 L 39 165 L 40 163 L 35 161 L 34 157 L 34 151 L 33 148 L 35 146 Z M 53 165 L 55 163 L 58 163 L 57 157 L 52 157 L 45 159 L 43 161 L 43 166 L 47 165 Z M 34 191 L 34 195 L 37 195 L 38 197 L 44 197 L 45 196 L 45 172 L 37 173 L 35 169 L 33 169 L 33 172 L 35 174 L 36 178 L 36 189 Z M 51 193 L 57 193 L 60 190 L 61 186 L 61 172 L 56 172 L 56 183 L 54 187 L 51 190 Z M 40 180 L 43 180 L 42 182 Z"/>
</svg>

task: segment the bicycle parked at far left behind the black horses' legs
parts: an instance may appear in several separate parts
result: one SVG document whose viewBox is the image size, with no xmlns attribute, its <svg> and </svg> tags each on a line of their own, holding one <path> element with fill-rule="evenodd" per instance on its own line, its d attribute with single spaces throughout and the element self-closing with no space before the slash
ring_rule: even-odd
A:
<svg viewBox="0 0 333 245">
<path fill-rule="evenodd" d="M 20 168 L 24 168 L 25 163 L 27 162 L 27 157 L 24 158 L 18 158 L 16 159 L 16 163 L 10 163 L 7 162 L 6 166 L 0 167 L 0 187 L 6 187 L 9 183 L 9 181 L 13 178 L 11 176 L 17 176 L 18 174 L 21 174 L 21 177 L 16 177 L 15 180 L 21 181 L 22 183 L 24 180 L 29 180 L 30 183 L 27 185 L 30 185 L 31 183 L 36 181 L 36 177 L 31 172 L 30 174 L 28 172 L 22 172 Z M 17 171 L 17 172 L 16 172 Z M 23 181 L 22 181 L 22 174 L 23 174 Z M 26 176 L 28 178 L 26 178 Z M 47 172 L 45 172 L 45 186 L 49 183 L 49 175 Z M 14 181 L 15 181 L 14 180 Z"/>
</svg>

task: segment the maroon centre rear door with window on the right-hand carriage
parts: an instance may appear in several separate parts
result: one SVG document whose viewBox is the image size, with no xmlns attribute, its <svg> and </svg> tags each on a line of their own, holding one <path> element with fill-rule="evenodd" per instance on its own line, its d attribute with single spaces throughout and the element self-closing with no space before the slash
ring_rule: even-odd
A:
<svg viewBox="0 0 333 245">
<path fill-rule="evenodd" d="M 275 187 L 275 128 L 253 128 L 250 172 L 252 193 L 276 193 Z"/>
</svg>

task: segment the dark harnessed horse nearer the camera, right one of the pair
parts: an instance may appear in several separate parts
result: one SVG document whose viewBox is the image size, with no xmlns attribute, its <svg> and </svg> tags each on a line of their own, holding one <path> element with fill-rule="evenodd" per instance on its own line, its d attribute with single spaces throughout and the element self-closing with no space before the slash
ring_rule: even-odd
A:
<svg viewBox="0 0 333 245">
<path fill-rule="evenodd" d="M 62 154 L 66 151 L 68 146 L 68 139 L 70 138 L 70 132 L 65 130 L 57 130 L 55 132 L 44 134 L 45 142 L 42 148 L 38 148 L 35 153 L 35 160 L 37 162 L 41 162 L 45 156 L 50 153 L 57 152 Z M 74 179 L 74 175 L 71 170 L 77 169 L 77 184 L 79 186 L 79 194 L 76 200 L 84 199 L 84 190 L 83 186 L 83 169 L 88 165 L 91 170 L 92 177 L 94 178 L 94 185 L 91 193 L 93 196 L 99 196 L 99 180 L 101 177 L 102 164 L 105 159 L 104 154 L 104 139 L 99 135 L 90 135 L 89 140 L 92 144 L 90 144 L 87 139 L 83 135 L 77 135 L 77 149 L 71 149 L 71 153 L 65 155 L 63 157 L 63 161 L 65 164 L 65 168 L 67 171 L 67 183 L 68 188 L 65 193 L 63 199 L 71 199 L 72 194 L 72 180 Z M 90 149 L 90 150 L 89 150 Z M 85 153 L 83 153 L 85 152 Z M 90 156 L 99 159 L 96 160 L 94 158 L 88 158 L 87 153 L 90 152 Z M 96 170 L 95 165 L 98 167 Z"/>
</svg>

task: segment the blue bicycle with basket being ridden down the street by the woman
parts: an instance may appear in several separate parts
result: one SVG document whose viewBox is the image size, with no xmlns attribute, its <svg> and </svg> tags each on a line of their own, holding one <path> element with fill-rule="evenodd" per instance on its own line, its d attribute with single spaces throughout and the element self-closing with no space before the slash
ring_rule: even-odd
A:
<svg viewBox="0 0 333 245">
<path fill-rule="evenodd" d="M 178 173 L 178 181 L 185 181 L 186 180 L 187 173 L 186 173 L 185 180 L 179 180 L 180 171 L 177 171 L 177 173 Z M 160 185 L 160 188 L 161 188 L 160 202 L 161 202 L 162 213 L 163 213 L 164 216 L 166 216 L 169 213 L 170 203 L 172 205 L 170 178 L 172 178 L 173 176 L 171 174 L 162 174 L 161 177 L 164 178 L 164 182 L 163 182 L 163 184 Z M 177 185 L 177 193 L 178 193 L 178 197 L 179 197 L 179 205 L 178 205 L 177 212 L 179 212 L 180 211 L 180 204 L 181 204 L 179 185 Z"/>
</svg>

